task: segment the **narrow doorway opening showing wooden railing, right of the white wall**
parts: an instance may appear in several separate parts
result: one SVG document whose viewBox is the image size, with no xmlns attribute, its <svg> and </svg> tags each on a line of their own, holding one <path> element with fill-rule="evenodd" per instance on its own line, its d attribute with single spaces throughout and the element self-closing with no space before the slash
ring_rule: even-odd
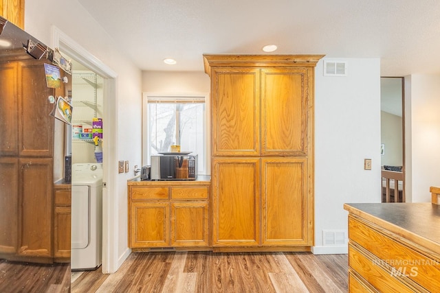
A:
<svg viewBox="0 0 440 293">
<path fill-rule="evenodd" d="M 406 202 L 404 78 L 381 78 L 382 202 Z"/>
</svg>

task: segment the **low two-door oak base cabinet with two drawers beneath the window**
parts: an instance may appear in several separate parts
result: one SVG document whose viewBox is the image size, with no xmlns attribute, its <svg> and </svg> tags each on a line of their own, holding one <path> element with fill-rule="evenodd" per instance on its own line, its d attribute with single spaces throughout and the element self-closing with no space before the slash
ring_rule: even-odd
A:
<svg viewBox="0 0 440 293">
<path fill-rule="evenodd" d="M 209 187 L 209 180 L 130 181 L 129 247 L 208 248 Z"/>
</svg>

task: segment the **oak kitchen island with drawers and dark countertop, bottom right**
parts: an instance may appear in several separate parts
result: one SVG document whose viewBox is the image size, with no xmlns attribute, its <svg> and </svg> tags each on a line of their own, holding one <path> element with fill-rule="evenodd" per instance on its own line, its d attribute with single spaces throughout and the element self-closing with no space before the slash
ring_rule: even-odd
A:
<svg viewBox="0 0 440 293">
<path fill-rule="evenodd" d="M 344 204 L 349 292 L 440 292 L 440 207 Z"/>
</svg>

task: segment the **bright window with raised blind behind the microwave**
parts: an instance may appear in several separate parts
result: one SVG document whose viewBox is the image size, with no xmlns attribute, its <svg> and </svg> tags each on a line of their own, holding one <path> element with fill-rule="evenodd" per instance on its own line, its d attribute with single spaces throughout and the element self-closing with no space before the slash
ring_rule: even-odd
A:
<svg viewBox="0 0 440 293">
<path fill-rule="evenodd" d="M 144 164 L 150 156 L 170 152 L 199 155 L 199 174 L 208 174 L 206 95 L 150 95 L 144 93 Z"/>
</svg>

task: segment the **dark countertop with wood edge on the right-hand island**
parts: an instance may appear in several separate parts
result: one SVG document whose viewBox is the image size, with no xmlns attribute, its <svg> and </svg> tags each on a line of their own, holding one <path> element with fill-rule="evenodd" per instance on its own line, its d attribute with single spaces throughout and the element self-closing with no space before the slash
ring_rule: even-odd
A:
<svg viewBox="0 0 440 293">
<path fill-rule="evenodd" d="M 440 206 L 437 204 L 355 203 L 344 204 L 344 209 L 440 254 Z"/>
</svg>

